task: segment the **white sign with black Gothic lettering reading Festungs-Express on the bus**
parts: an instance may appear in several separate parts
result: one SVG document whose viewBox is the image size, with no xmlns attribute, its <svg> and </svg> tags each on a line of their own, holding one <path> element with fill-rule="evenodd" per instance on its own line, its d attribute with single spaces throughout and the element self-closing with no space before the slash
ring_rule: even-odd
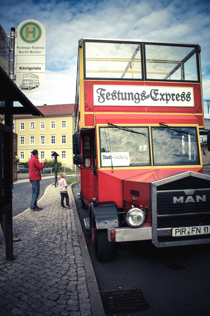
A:
<svg viewBox="0 0 210 316">
<path fill-rule="evenodd" d="M 94 85 L 94 106 L 194 106 L 192 87 Z"/>
</svg>

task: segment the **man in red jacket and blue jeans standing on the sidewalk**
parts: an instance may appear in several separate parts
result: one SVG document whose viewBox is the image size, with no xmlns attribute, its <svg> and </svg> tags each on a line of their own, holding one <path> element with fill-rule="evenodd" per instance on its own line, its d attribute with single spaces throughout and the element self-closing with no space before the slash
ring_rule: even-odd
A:
<svg viewBox="0 0 210 316">
<path fill-rule="evenodd" d="M 32 157 L 28 162 L 29 167 L 29 180 L 32 184 L 32 200 L 31 200 L 31 211 L 40 211 L 43 210 L 42 207 L 37 206 L 37 198 L 39 196 L 39 180 L 42 179 L 41 171 L 44 169 L 45 161 L 43 160 L 42 163 L 38 160 L 38 151 L 34 149 L 32 151 Z"/>
</svg>

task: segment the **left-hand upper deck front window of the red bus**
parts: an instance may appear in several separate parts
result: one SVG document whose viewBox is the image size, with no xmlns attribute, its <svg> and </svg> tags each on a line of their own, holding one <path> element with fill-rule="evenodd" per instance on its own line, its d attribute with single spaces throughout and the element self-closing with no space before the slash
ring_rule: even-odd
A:
<svg viewBox="0 0 210 316">
<path fill-rule="evenodd" d="M 142 79 L 141 45 L 85 42 L 86 78 Z"/>
</svg>

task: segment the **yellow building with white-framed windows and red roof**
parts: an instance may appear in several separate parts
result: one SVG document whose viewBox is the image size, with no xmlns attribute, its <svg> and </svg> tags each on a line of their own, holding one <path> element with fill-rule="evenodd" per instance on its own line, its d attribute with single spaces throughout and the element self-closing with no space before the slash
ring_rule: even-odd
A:
<svg viewBox="0 0 210 316">
<path fill-rule="evenodd" d="M 72 134 L 74 133 L 74 104 L 36 106 L 44 117 L 31 114 L 13 116 L 13 131 L 18 135 L 18 157 L 28 161 L 33 149 L 39 152 L 39 160 L 54 159 L 55 151 L 66 167 L 73 167 Z"/>
</svg>

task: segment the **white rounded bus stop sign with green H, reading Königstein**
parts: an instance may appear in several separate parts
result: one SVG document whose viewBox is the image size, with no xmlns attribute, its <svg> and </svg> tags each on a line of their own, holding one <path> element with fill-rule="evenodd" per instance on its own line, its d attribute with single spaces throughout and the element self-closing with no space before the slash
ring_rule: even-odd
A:
<svg viewBox="0 0 210 316">
<path fill-rule="evenodd" d="M 23 92 L 34 92 L 44 83 L 45 28 L 36 20 L 25 20 L 16 32 L 15 83 Z"/>
</svg>

